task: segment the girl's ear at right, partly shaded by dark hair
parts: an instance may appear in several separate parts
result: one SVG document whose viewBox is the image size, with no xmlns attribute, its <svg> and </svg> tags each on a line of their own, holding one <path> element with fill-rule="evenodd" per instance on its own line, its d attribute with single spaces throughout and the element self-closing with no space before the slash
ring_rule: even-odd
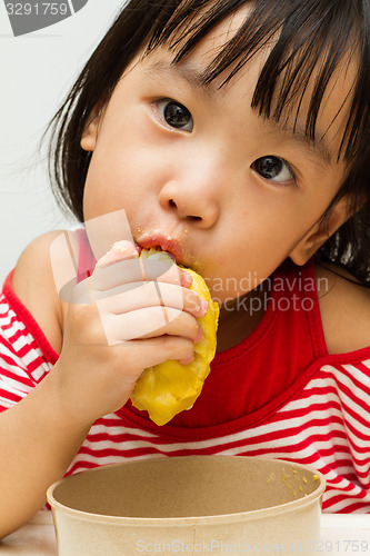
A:
<svg viewBox="0 0 370 556">
<path fill-rule="evenodd" d="M 289 257 L 299 266 L 306 262 L 316 254 L 318 249 L 340 228 L 352 215 L 349 212 L 348 198 L 343 197 L 336 205 L 329 218 L 318 222 L 293 248 Z"/>
</svg>

